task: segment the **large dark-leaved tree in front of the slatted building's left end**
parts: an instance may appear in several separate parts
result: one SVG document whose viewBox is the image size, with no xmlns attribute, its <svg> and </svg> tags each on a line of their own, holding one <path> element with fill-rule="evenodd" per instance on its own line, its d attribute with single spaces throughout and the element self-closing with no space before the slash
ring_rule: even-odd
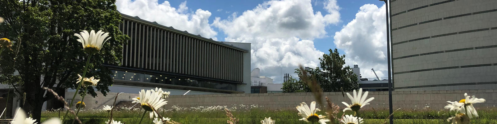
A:
<svg viewBox="0 0 497 124">
<path fill-rule="evenodd" d="M 118 65 L 122 44 L 129 38 L 119 30 L 121 15 L 115 0 L 7 0 L 0 6 L 0 37 L 13 42 L 13 51 L 0 56 L 0 82 L 10 84 L 18 94 L 26 93 L 22 108 L 38 122 L 43 103 L 52 99 L 42 87 L 75 89 L 77 74 L 83 73 L 87 55 L 73 34 L 82 30 L 109 32 L 109 41 L 93 55 L 86 77 L 100 79 L 95 90 L 104 96 L 113 81 L 104 64 Z M 83 93 L 80 90 L 80 93 Z"/>
</svg>

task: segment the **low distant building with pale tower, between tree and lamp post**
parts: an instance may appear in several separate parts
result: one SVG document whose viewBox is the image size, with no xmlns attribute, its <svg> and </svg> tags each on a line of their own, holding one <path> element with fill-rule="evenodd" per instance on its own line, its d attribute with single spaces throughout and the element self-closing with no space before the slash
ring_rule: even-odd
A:
<svg viewBox="0 0 497 124">
<path fill-rule="evenodd" d="M 388 91 L 388 77 L 362 78 L 359 65 L 354 64 L 352 71 L 357 75 L 359 88 L 364 91 Z"/>
</svg>

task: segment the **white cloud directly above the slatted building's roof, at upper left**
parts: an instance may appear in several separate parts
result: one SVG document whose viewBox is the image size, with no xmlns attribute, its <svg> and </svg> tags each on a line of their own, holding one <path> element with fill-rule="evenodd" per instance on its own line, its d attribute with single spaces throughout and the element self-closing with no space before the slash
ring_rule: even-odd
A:
<svg viewBox="0 0 497 124">
<path fill-rule="evenodd" d="M 117 0 L 115 4 L 121 13 L 216 40 L 217 32 L 209 24 L 211 12 L 202 9 L 188 11 L 186 1 L 177 8 L 169 1 L 159 3 L 158 0 Z"/>
</svg>

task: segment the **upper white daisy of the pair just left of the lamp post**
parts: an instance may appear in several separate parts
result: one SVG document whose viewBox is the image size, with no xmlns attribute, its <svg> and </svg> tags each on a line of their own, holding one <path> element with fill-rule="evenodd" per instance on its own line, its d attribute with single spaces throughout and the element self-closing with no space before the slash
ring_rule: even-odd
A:
<svg viewBox="0 0 497 124">
<path fill-rule="evenodd" d="M 357 112 L 365 105 L 369 105 L 369 102 L 371 102 L 374 99 L 374 97 L 371 97 L 366 100 L 366 97 L 368 96 L 368 91 L 364 92 L 364 95 L 362 95 L 362 88 L 359 88 L 359 92 L 355 92 L 354 90 L 352 91 L 352 93 L 354 94 L 354 96 L 347 93 L 347 96 L 348 98 L 350 98 L 352 104 L 349 105 L 345 102 L 342 102 L 345 106 L 347 106 L 347 108 L 343 109 L 343 112 L 347 110 Z"/>
</svg>

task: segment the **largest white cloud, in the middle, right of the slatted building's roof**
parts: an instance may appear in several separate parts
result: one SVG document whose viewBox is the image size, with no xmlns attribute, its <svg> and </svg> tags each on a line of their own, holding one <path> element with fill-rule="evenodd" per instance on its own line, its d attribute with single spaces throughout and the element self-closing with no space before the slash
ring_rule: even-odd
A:
<svg viewBox="0 0 497 124">
<path fill-rule="evenodd" d="M 311 0 L 270 0 L 240 16 L 216 17 L 212 25 L 227 35 L 225 41 L 252 44 L 251 66 L 259 67 L 261 75 L 280 77 L 281 72 L 293 73 L 299 64 L 319 65 L 324 53 L 313 40 L 325 37 L 325 27 L 340 19 L 336 0 L 326 1 L 324 9 L 325 15 L 314 11 Z"/>
</svg>

